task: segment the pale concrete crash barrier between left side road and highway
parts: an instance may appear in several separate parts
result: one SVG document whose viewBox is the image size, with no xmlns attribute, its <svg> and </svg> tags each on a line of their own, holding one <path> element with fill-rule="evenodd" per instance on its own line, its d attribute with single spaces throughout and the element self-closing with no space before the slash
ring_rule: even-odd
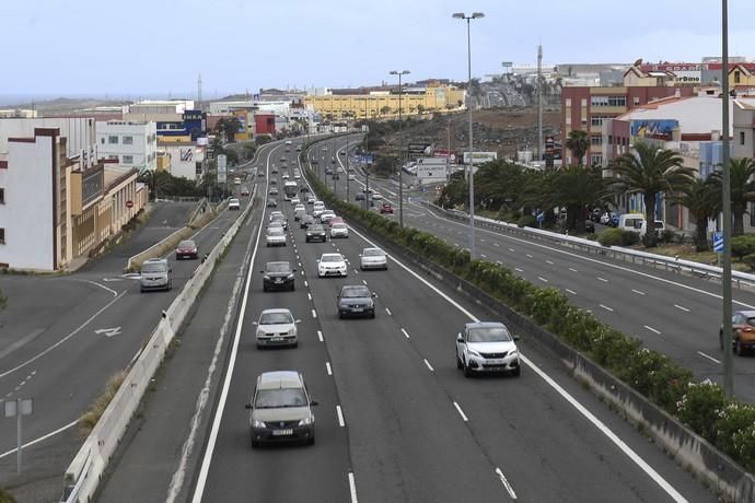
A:
<svg viewBox="0 0 755 503">
<path fill-rule="evenodd" d="M 85 503 L 94 496 L 111 456 L 113 456 L 118 442 L 120 442 L 126 432 L 126 428 L 137 410 L 152 376 L 160 366 L 169 344 L 179 330 L 197 295 L 212 274 L 216 261 L 221 257 L 236 235 L 236 232 L 239 232 L 239 229 L 241 229 L 244 220 L 246 220 L 256 194 L 257 186 L 255 185 L 249 203 L 242 214 L 225 232 L 222 239 L 212 248 L 207 259 L 197 267 L 194 276 L 186 282 L 170 307 L 163 311 L 160 323 L 149 341 L 142 347 L 139 358 L 128 371 L 113 401 L 107 406 L 92 433 L 86 437 L 84 444 L 66 470 L 61 502 Z"/>
</svg>

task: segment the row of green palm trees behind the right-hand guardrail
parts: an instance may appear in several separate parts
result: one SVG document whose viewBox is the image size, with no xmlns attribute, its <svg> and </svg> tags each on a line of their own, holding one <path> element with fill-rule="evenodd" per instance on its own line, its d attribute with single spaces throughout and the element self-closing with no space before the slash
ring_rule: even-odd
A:
<svg viewBox="0 0 755 503">
<path fill-rule="evenodd" d="M 578 142 L 579 139 L 573 141 Z M 571 150 L 580 152 L 579 149 Z M 755 162 L 752 159 L 732 159 L 729 172 L 732 235 L 736 236 L 744 234 L 744 215 L 748 203 L 755 201 Z M 678 153 L 639 141 L 632 152 L 612 161 L 605 169 L 574 165 L 557 171 L 532 171 L 508 161 L 484 164 L 475 174 L 475 206 L 481 204 L 485 209 L 509 215 L 526 215 L 544 208 L 566 207 L 567 227 L 583 232 L 585 209 L 616 208 L 617 197 L 641 195 L 646 221 L 652 229 L 657 196 L 663 194 L 672 203 L 688 209 L 697 226 L 695 245 L 701 252 L 708 249 L 708 221 L 718 219 L 722 210 L 721 182 L 720 171 L 701 179 L 695 169 L 683 165 Z M 440 194 L 439 202 L 446 207 L 464 206 L 467 201 L 466 190 L 464 175 L 456 174 Z M 554 218 L 550 211 L 544 213 L 546 219 Z M 648 247 L 657 246 L 655 233 L 647 233 L 644 244 Z"/>
</svg>

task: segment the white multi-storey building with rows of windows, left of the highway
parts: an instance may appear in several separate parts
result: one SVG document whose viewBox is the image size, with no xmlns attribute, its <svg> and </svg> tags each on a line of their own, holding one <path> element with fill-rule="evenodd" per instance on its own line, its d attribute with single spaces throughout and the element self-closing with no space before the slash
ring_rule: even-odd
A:
<svg viewBox="0 0 755 503">
<path fill-rule="evenodd" d="M 118 160 L 123 167 L 154 171 L 158 167 L 156 122 L 96 122 L 101 159 Z"/>
</svg>

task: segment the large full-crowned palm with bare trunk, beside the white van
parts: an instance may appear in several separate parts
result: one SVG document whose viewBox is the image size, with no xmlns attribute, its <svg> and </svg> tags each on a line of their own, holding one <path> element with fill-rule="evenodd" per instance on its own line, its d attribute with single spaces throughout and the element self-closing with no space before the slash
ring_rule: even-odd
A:
<svg viewBox="0 0 755 503">
<path fill-rule="evenodd" d="M 653 230 L 655 221 L 655 196 L 659 192 L 672 194 L 689 185 L 694 179 L 693 169 L 682 165 L 682 156 L 672 150 L 638 141 L 634 152 L 627 152 L 612 163 L 614 177 L 609 186 L 617 192 L 642 194 L 644 220 Z M 654 232 L 647 232 L 644 245 L 658 245 Z"/>
</svg>

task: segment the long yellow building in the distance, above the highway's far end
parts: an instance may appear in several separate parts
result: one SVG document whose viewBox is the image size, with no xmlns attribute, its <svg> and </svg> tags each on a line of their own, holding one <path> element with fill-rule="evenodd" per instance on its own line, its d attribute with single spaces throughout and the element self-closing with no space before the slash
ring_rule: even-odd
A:
<svg viewBox="0 0 755 503">
<path fill-rule="evenodd" d="M 423 112 L 446 112 L 464 106 L 464 91 L 452 85 L 428 85 L 423 92 L 405 87 L 400 96 L 403 115 Z M 304 104 L 312 106 L 323 116 L 334 119 L 375 119 L 397 117 L 399 107 L 398 93 L 390 91 L 370 94 L 328 94 L 325 96 L 306 96 Z"/>
</svg>

